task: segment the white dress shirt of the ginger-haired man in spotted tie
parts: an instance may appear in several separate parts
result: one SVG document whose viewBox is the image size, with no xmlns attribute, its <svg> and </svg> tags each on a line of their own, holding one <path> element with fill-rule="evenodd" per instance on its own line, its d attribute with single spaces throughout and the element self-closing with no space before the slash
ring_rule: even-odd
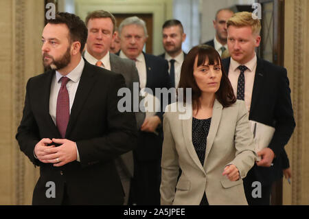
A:
<svg viewBox="0 0 309 219">
<path fill-rule="evenodd" d="M 248 68 L 246 71 L 244 71 L 244 103 L 246 104 L 248 112 L 250 112 L 255 70 L 257 65 L 256 54 L 249 62 L 245 63 L 244 65 Z M 240 66 L 240 64 L 231 58 L 231 63 L 229 65 L 229 80 L 236 97 L 238 77 L 240 75 L 240 69 L 238 69 L 238 66 Z"/>
</svg>

